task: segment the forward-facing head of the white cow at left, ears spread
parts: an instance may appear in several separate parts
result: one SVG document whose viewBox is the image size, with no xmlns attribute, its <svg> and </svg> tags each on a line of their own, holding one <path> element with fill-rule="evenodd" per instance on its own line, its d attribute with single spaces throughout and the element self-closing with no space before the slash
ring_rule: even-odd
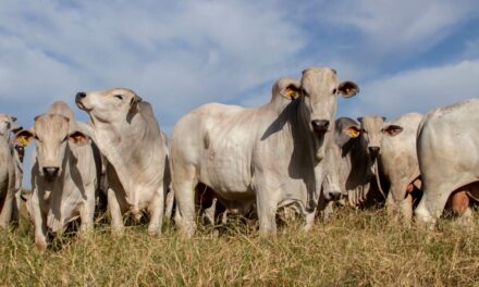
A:
<svg viewBox="0 0 479 287">
<path fill-rule="evenodd" d="M 15 135 L 14 144 L 27 146 L 35 139 L 36 155 L 41 176 L 53 178 L 62 173 L 62 163 L 69 145 L 84 146 L 90 139 L 82 132 L 71 130 L 70 120 L 60 114 L 35 117 L 34 127 Z"/>
</svg>

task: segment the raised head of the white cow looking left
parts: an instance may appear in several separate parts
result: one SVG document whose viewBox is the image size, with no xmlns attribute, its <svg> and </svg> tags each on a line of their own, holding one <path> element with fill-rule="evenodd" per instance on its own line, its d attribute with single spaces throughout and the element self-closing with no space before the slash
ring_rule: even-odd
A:
<svg viewBox="0 0 479 287">
<path fill-rule="evenodd" d="M 103 91 L 76 93 L 76 105 L 87 112 L 94 123 L 96 121 L 112 123 L 125 121 L 128 115 L 136 112 L 142 98 L 133 90 L 113 88 Z"/>
</svg>

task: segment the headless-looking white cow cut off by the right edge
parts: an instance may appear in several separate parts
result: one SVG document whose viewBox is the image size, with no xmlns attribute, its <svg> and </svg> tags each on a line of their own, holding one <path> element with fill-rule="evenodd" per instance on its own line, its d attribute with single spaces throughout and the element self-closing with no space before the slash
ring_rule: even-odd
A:
<svg viewBox="0 0 479 287">
<path fill-rule="evenodd" d="M 464 196 L 477 197 L 479 191 L 478 125 L 479 99 L 438 108 L 422 118 L 417 138 L 422 179 L 422 199 L 415 210 L 419 223 L 433 228 L 452 195 L 452 203 L 462 205 L 453 210 L 466 220 L 471 216 Z"/>
</svg>

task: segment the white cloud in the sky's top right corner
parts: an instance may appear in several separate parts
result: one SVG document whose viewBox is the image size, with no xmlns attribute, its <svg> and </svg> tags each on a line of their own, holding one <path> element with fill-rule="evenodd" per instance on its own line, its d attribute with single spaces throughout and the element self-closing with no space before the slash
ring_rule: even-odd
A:
<svg viewBox="0 0 479 287">
<path fill-rule="evenodd" d="M 331 29 L 324 40 L 327 50 L 332 41 L 331 57 L 354 60 L 357 68 L 368 63 L 370 73 L 365 75 L 369 76 L 379 72 L 372 67 L 430 50 L 476 16 L 479 5 L 472 0 L 344 0 L 321 2 L 309 10 L 305 13 L 324 30 Z"/>
</svg>

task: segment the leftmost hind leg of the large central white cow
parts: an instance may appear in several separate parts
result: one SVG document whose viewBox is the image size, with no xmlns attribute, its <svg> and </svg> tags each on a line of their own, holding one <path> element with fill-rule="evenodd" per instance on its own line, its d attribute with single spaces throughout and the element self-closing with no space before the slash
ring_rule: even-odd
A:
<svg viewBox="0 0 479 287">
<path fill-rule="evenodd" d="M 173 190 L 176 203 L 174 220 L 183 237 L 191 238 L 196 230 L 195 187 L 196 169 L 193 165 L 173 165 Z"/>
</svg>

